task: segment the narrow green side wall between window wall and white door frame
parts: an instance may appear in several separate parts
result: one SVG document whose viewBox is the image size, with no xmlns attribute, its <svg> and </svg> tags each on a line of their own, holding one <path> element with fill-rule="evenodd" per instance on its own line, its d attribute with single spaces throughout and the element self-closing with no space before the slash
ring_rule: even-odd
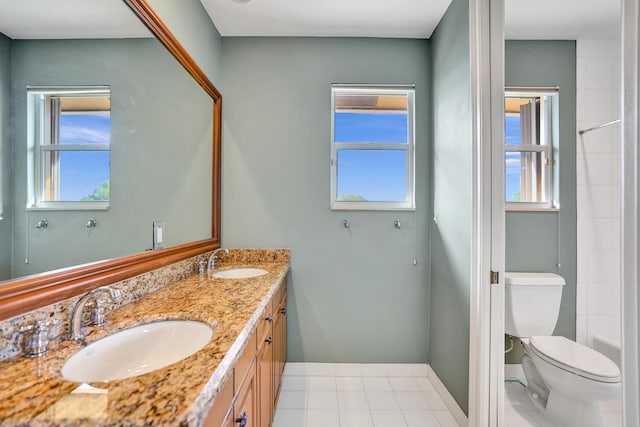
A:
<svg viewBox="0 0 640 427">
<path fill-rule="evenodd" d="M 432 38 L 431 367 L 468 410 L 471 264 L 469 3 L 454 0 Z"/>
</svg>

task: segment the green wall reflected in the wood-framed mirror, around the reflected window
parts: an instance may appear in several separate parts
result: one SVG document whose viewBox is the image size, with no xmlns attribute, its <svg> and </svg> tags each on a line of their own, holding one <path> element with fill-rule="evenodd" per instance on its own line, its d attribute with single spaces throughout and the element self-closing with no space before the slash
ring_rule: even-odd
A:
<svg viewBox="0 0 640 427">
<path fill-rule="evenodd" d="M 159 42 L 14 40 L 11 76 L 14 277 L 142 252 L 154 220 L 168 246 L 210 236 L 212 102 Z M 109 210 L 25 213 L 27 85 L 110 85 Z M 42 217 L 49 227 L 36 230 Z"/>
</svg>

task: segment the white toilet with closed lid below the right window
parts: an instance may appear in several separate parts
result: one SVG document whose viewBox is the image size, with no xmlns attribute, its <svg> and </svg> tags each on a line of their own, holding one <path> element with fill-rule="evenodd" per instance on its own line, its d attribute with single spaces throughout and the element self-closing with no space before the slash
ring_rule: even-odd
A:
<svg viewBox="0 0 640 427">
<path fill-rule="evenodd" d="M 598 401 L 620 393 L 620 370 L 604 355 L 551 336 L 564 279 L 552 273 L 505 273 L 505 333 L 524 344 L 531 400 L 558 426 L 602 427 Z"/>
</svg>

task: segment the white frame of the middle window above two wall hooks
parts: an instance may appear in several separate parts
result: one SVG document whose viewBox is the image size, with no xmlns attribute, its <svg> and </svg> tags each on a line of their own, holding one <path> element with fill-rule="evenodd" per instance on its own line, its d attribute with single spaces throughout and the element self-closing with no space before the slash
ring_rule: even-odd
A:
<svg viewBox="0 0 640 427">
<path fill-rule="evenodd" d="M 407 143 L 335 141 L 335 98 L 338 93 L 407 96 Z M 337 199 L 339 150 L 400 150 L 406 153 L 406 199 L 398 201 L 340 201 Z M 415 86 L 413 85 L 331 85 L 331 200 L 332 210 L 415 210 Z"/>
</svg>

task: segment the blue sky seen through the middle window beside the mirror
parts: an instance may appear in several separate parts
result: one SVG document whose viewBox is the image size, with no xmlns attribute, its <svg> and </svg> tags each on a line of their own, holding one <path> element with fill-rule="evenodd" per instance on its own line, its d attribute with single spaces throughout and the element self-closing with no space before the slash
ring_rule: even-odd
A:
<svg viewBox="0 0 640 427">
<path fill-rule="evenodd" d="M 406 114 L 338 112 L 334 125 L 336 142 L 407 142 Z M 405 200 L 406 180 L 403 150 L 338 151 L 338 196 L 354 194 L 370 201 Z"/>
</svg>

